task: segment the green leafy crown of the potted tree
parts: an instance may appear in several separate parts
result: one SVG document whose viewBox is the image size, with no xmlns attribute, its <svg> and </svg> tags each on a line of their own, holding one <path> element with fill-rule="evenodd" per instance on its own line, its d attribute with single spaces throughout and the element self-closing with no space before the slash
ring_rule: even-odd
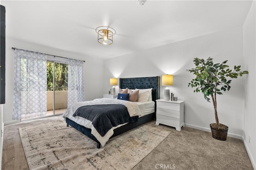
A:
<svg viewBox="0 0 256 170">
<path fill-rule="evenodd" d="M 212 95 L 215 90 L 217 94 L 222 94 L 221 90 L 224 92 L 230 90 L 231 80 L 227 80 L 227 77 L 237 78 L 243 74 L 248 74 L 248 71 L 241 71 L 241 66 L 235 65 L 234 70 L 231 70 L 226 65 L 228 61 L 214 63 L 211 57 L 206 60 L 194 58 L 193 62 L 195 67 L 186 70 L 195 75 L 195 78 L 188 83 L 188 86 L 195 88 L 194 92 L 202 92 L 208 102 L 210 102 L 208 96 Z"/>
</svg>

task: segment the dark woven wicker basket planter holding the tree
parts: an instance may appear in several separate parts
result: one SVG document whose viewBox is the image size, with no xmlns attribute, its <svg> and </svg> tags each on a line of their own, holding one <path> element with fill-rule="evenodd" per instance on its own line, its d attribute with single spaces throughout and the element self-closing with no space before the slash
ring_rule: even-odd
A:
<svg viewBox="0 0 256 170">
<path fill-rule="evenodd" d="M 220 141 L 226 141 L 228 135 L 228 127 L 220 124 L 220 127 L 216 127 L 216 123 L 211 123 L 210 128 L 212 131 L 212 137 Z"/>
</svg>

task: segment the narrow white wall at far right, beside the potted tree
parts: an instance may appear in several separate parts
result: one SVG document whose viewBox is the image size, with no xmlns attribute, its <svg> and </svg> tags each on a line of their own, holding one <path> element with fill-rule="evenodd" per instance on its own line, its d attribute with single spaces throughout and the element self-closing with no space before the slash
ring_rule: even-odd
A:
<svg viewBox="0 0 256 170">
<path fill-rule="evenodd" d="M 244 82 L 244 133 L 245 147 L 256 168 L 256 2 L 252 6 L 243 25 L 244 68 L 249 71 Z M 249 140 L 250 137 L 250 140 Z"/>
</svg>

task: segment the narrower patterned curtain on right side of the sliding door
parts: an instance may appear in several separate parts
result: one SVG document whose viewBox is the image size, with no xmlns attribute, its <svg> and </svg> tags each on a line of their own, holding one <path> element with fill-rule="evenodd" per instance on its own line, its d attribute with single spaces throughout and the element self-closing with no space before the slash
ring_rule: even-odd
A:
<svg viewBox="0 0 256 170">
<path fill-rule="evenodd" d="M 83 61 L 68 59 L 68 107 L 84 101 Z"/>
</svg>

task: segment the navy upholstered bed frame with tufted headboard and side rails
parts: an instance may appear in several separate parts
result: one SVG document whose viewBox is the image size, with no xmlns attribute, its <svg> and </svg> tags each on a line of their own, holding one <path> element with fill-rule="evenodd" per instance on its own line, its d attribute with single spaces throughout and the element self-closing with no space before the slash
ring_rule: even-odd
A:
<svg viewBox="0 0 256 170">
<path fill-rule="evenodd" d="M 155 102 L 155 111 L 154 113 L 150 113 L 143 117 L 139 118 L 139 121 L 127 123 L 121 127 L 114 129 L 114 134 L 110 137 L 116 137 L 134 127 L 142 125 L 148 121 L 151 121 L 156 118 L 156 100 L 160 99 L 160 76 L 156 77 L 140 77 L 140 78 L 120 78 L 119 79 L 119 87 L 120 88 L 129 88 L 129 89 L 144 89 L 144 88 L 152 88 L 152 100 Z M 66 118 L 67 126 L 72 126 L 84 135 L 88 136 L 90 139 L 96 141 L 97 148 L 100 148 L 100 142 L 91 134 L 91 129 L 88 129 L 82 125 L 77 124 L 76 122 Z"/>
</svg>

